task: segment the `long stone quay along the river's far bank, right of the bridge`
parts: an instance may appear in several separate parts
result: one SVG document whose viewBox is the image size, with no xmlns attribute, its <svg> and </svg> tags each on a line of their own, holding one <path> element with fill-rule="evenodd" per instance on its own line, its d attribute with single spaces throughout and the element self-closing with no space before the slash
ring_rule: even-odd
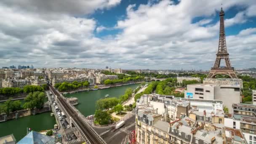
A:
<svg viewBox="0 0 256 144">
<path fill-rule="evenodd" d="M 79 92 L 85 92 L 85 91 L 95 91 L 95 90 L 102 90 L 102 89 L 107 89 L 107 88 L 115 88 L 118 86 L 123 86 L 123 85 L 131 85 L 131 84 L 138 84 L 138 83 L 144 83 L 145 81 L 141 82 L 131 82 L 131 83 L 122 83 L 122 84 L 113 84 L 113 85 L 97 85 L 98 88 L 94 89 L 93 87 L 91 88 L 82 88 L 82 89 L 77 89 L 77 90 L 72 90 L 72 91 L 64 91 L 61 92 L 61 94 L 72 94 L 72 93 L 79 93 Z"/>
</svg>

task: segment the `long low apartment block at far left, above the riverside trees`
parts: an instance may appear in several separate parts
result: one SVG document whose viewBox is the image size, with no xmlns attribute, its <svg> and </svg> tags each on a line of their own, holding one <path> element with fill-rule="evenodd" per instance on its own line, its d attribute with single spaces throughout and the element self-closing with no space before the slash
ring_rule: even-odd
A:
<svg viewBox="0 0 256 144">
<path fill-rule="evenodd" d="M 3 88 L 23 88 L 25 85 L 31 85 L 31 81 L 26 79 L 5 79 L 2 81 Z"/>
</svg>

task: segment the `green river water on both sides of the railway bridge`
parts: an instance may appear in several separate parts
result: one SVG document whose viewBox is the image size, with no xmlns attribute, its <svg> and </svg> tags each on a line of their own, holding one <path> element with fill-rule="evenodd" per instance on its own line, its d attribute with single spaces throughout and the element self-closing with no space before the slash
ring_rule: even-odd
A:
<svg viewBox="0 0 256 144">
<path fill-rule="evenodd" d="M 96 91 L 85 91 L 80 93 L 65 94 L 65 97 L 77 97 L 78 105 L 75 106 L 83 115 L 93 115 L 95 112 L 95 103 L 98 99 L 105 98 L 106 94 L 109 97 L 120 97 L 125 93 L 127 88 L 136 88 L 140 84 L 123 85 L 115 88 L 107 88 Z M 23 102 L 22 102 L 23 103 Z M 0 137 L 9 134 L 14 135 L 18 142 L 27 134 L 26 128 L 31 128 L 33 131 L 42 131 L 53 128 L 56 124 L 54 117 L 50 116 L 51 112 L 20 117 L 17 120 L 8 120 L 7 122 L 0 123 Z"/>
</svg>

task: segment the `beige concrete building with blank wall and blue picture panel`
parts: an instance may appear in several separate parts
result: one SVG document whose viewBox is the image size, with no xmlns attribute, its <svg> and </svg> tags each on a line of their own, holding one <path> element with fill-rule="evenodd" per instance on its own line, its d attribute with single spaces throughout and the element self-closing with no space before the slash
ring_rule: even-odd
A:
<svg viewBox="0 0 256 144">
<path fill-rule="evenodd" d="M 232 109 L 232 104 L 238 104 L 240 98 L 239 85 L 190 84 L 184 92 L 184 98 L 221 100 L 224 106 Z"/>
</svg>

